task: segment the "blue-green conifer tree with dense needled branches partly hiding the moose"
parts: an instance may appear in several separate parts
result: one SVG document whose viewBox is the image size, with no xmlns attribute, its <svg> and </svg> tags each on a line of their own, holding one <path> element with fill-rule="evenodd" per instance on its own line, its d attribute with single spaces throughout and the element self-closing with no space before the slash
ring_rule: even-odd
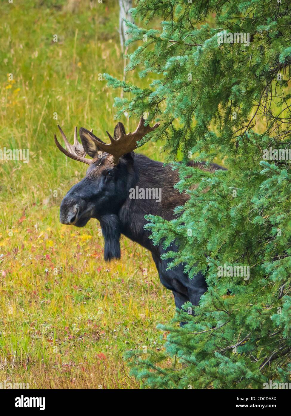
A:
<svg viewBox="0 0 291 416">
<path fill-rule="evenodd" d="M 289 383 L 291 2 L 139 0 L 132 15 L 141 22 L 127 22 L 127 43 L 137 42 L 127 70 L 152 82 L 142 89 L 106 74 L 130 93 L 116 99 L 117 117 L 161 122 L 152 138 L 164 140 L 176 188 L 190 195 L 177 217 L 149 215 L 147 228 L 169 268 L 182 263 L 189 278 L 201 270 L 208 284 L 194 316 L 185 305 L 160 325 L 169 331 L 161 352 L 127 353 L 132 374 L 152 388 Z M 189 158 L 227 171 L 188 167 Z"/>
</svg>

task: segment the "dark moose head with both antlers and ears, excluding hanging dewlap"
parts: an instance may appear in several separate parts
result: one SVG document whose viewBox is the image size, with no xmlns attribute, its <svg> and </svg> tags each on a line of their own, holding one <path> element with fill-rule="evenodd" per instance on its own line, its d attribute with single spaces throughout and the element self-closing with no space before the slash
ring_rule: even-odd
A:
<svg viewBox="0 0 291 416">
<path fill-rule="evenodd" d="M 66 156 L 89 165 L 85 178 L 68 191 L 61 203 L 61 223 L 83 227 L 90 218 L 100 219 L 105 214 L 116 215 L 128 197 L 130 185 L 136 176 L 133 150 L 137 149 L 139 140 L 158 126 L 159 123 L 153 127 L 144 126 L 144 119 L 141 118 L 137 129 L 125 134 L 123 124 L 118 123 L 113 137 L 106 131 L 110 144 L 83 128 L 79 130 L 81 144 L 75 127 L 73 145 L 58 126 L 66 146 L 64 149 L 54 134 L 59 150 Z M 86 158 L 86 155 L 92 159 Z"/>
</svg>

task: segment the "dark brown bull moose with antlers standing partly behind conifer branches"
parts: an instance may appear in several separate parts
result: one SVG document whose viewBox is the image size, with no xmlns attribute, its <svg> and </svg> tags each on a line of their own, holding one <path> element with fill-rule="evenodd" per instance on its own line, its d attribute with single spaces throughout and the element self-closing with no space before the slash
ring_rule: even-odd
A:
<svg viewBox="0 0 291 416">
<path fill-rule="evenodd" d="M 89 165 L 85 178 L 64 197 L 60 221 L 83 227 L 90 218 L 99 220 L 105 239 L 105 260 L 120 258 L 121 234 L 150 250 L 161 283 L 172 290 L 176 307 L 181 309 L 185 302 L 198 305 L 207 285 L 201 273 L 189 279 L 182 265 L 166 270 L 169 260 L 161 260 L 163 248 L 161 245 L 154 246 L 144 230 L 144 215 L 159 215 L 170 220 L 174 208 L 183 205 L 188 199 L 186 193 L 181 194 L 174 189 L 174 184 L 179 181 L 177 171 L 133 152 L 137 149 L 137 141 L 158 126 L 144 126 L 144 120 L 141 119 L 134 133 L 125 134 L 123 124 L 118 123 L 113 137 L 107 132 L 110 144 L 105 144 L 92 132 L 81 128 L 79 134 L 83 146 L 77 139 L 77 128 L 74 144 L 71 145 L 59 127 L 66 149 L 54 135 L 56 146 L 66 156 Z M 92 159 L 86 158 L 87 154 Z M 189 164 L 208 171 L 224 169 L 216 164 L 207 168 L 205 163 Z M 177 247 L 173 244 L 171 250 L 176 251 Z"/>
</svg>

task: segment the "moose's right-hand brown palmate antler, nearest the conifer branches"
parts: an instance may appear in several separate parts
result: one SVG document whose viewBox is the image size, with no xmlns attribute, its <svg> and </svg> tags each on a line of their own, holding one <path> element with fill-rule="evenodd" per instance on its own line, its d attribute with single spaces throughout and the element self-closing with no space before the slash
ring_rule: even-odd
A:
<svg viewBox="0 0 291 416">
<path fill-rule="evenodd" d="M 159 123 L 156 123 L 153 127 L 144 126 L 144 118 L 142 117 L 139 120 L 139 124 L 136 130 L 133 133 L 125 134 L 122 131 L 120 124 L 118 124 L 119 137 L 117 139 L 113 139 L 110 133 L 108 133 L 108 131 L 106 130 L 106 133 L 108 134 L 108 137 L 111 141 L 111 143 L 109 144 L 105 144 L 94 139 L 94 137 L 91 134 L 89 134 L 89 136 L 90 139 L 92 139 L 95 142 L 95 144 L 98 145 L 99 149 L 113 156 L 112 163 L 113 165 L 117 165 L 121 156 L 131 152 L 134 149 L 137 149 L 137 141 L 141 140 L 150 131 L 153 131 L 154 129 L 159 127 L 159 125 Z"/>
</svg>

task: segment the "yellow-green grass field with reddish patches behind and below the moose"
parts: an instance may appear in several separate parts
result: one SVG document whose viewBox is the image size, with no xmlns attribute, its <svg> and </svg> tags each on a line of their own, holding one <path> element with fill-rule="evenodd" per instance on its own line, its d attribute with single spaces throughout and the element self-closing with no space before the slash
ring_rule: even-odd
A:
<svg viewBox="0 0 291 416">
<path fill-rule="evenodd" d="M 139 388 L 122 353 L 161 347 L 156 325 L 174 315 L 172 295 L 139 245 L 123 238 L 122 260 L 108 265 L 97 221 L 59 223 L 86 167 L 53 142 L 57 124 L 68 138 L 75 125 L 101 138 L 113 131 L 120 92 L 99 79 L 123 76 L 118 4 L 83 0 L 72 12 L 62 3 L 1 2 L 0 148 L 29 149 L 29 163 L 0 161 L 0 381 Z M 159 144 L 141 151 L 164 160 Z"/>
</svg>

